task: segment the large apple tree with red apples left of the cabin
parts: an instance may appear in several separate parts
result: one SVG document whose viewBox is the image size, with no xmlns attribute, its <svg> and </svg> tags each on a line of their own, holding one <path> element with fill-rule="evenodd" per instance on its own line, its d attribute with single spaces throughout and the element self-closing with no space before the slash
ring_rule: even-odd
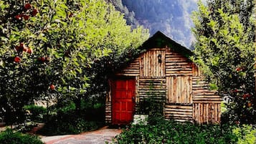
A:
<svg viewBox="0 0 256 144">
<path fill-rule="evenodd" d="M 0 4 L 0 117 L 8 123 L 22 121 L 22 107 L 32 99 L 85 97 L 89 80 L 105 75 L 96 62 L 118 59 L 148 38 L 103 0 Z"/>
</svg>

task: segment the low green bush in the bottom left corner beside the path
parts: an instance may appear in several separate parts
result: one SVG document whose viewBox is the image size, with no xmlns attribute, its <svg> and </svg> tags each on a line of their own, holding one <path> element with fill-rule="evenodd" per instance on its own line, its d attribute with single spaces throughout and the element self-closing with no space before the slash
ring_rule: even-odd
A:
<svg viewBox="0 0 256 144">
<path fill-rule="evenodd" d="M 23 133 L 14 133 L 11 129 L 7 129 L 0 133 L 0 143 L 11 144 L 43 144 L 37 136 L 27 135 Z"/>
</svg>

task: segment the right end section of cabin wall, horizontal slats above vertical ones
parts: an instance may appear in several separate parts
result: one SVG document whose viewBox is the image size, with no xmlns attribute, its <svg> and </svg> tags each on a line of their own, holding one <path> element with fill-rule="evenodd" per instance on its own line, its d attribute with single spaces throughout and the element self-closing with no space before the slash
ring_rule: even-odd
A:
<svg viewBox="0 0 256 144">
<path fill-rule="evenodd" d="M 193 67 L 193 119 L 195 123 L 220 123 L 222 97 L 216 90 L 209 90 L 209 84 L 204 80 L 202 71 Z"/>
</svg>

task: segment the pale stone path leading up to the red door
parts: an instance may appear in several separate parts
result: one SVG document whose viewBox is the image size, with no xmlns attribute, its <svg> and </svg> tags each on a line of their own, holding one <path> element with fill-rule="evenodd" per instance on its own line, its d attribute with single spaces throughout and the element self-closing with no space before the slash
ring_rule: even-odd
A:
<svg viewBox="0 0 256 144">
<path fill-rule="evenodd" d="M 108 127 L 80 135 L 59 135 L 44 137 L 45 144 L 105 144 L 110 143 L 115 135 L 121 133 L 120 129 L 109 129 Z"/>
</svg>

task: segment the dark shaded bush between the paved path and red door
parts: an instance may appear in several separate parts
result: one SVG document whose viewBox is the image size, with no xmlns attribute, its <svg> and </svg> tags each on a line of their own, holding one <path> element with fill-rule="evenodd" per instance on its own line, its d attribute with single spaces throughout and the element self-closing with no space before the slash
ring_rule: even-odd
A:
<svg viewBox="0 0 256 144">
<path fill-rule="evenodd" d="M 77 134 L 96 130 L 104 123 L 104 105 L 93 104 L 93 100 L 82 100 L 81 109 L 77 111 L 74 102 L 61 102 L 51 107 L 52 115 L 48 115 L 42 130 L 42 135 Z"/>
</svg>

